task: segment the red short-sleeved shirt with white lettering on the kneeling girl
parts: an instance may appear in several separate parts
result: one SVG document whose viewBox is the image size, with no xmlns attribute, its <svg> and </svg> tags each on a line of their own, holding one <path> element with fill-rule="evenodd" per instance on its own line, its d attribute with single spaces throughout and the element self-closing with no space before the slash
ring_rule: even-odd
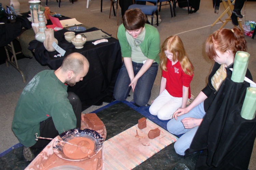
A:
<svg viewBox="0 0 256 170">
<path fill-rule="evenodd" d="M 162 70 L 162 77 L 166 78 L 166 90 L 173 97 L 182 97 L 182 87 L 189 87 L 188 98 L 191 97 L 190 82 L 193 79 L 193 75 L 187 75 L 181 68 L 181 64 L 178 61 L 172 65 L 170 60 L 167 61 L 167 71 Z"/>
</svg>

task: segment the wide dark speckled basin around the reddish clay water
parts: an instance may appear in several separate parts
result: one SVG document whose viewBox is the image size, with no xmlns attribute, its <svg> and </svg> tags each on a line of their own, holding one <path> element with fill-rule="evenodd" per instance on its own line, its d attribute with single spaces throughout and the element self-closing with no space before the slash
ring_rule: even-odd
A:
<svg viewBox="0 0 256 170">
<path fill-rule="evenodd" d="M 93 152 L 90 155 L 83 157 L 81 159 L 72 159 L 64 154 L 63 148 L 66 144 L 65 142 L 68 142 L 71 139 L 74 139 L 77 137 L 85 137 L 85 138 L 92 140 L 95 144 L 95 147 L 94 147 Z M 71 160 L 71 161 L 86 160 L 86 159 L 93 157 L 101 150 L 101 148 L 103 146 L 103 142 L 104 142 L 104 138 L 98 132 L 91 130 L 91 129 L 84 129 L 84 128 L 75 128 L 75 129 L 68 130 L 66 132 L 61 133 L 56 138 L 58 140 L 63 140 L 65 142 L 54 140 L 54 142 L 53 142 L 54 153 L 62 159 Z"/>
</svg>

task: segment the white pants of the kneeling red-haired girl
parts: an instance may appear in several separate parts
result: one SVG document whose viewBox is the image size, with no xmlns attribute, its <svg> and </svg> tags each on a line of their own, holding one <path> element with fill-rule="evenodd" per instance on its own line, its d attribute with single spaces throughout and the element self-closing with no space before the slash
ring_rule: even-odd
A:
<svg viewBox="0 0 256 170">
<path fill-rule="evenodd" d="M 160 120 L 169 120 L 173 113 L 182 105 L 182 97 L 173 97 L 165 89 L 154 100 L 149 108 L 151 115 L 157 115 Z"/>
</svg>

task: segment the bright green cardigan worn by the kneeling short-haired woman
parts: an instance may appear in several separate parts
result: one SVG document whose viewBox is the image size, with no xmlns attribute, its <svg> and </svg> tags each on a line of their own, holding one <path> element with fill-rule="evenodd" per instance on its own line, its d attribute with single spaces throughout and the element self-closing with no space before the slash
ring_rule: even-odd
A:
<svg viewBox="0 0 256 170">
<path fill-rule="evenodd" d="M 160 35 L 158 30 L 150 24 L 145 24 L 145 38 L 140 44 L 142 53 L 149 59 L 155 60 L 159 64 L 159 52 L 160 52 Z M 121 24 L 118 28 L 117 37 L 121 46 L 121 52 L 123 57 L 131 57 L 131 46 L 128 44 L 125 35 L 124 24 Z"/>
</svg>

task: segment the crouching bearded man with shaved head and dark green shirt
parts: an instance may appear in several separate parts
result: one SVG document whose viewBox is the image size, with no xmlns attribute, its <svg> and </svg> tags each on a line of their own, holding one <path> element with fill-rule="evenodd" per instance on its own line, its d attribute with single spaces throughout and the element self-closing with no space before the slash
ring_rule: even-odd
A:
<svg viewBox="0 0 256 170">
<path fill-rule="evenodd" d="M 27 160 L 34 158 L 33 148 L 45 147 L 60 133 L 81 126 L 82 105 L 79 97 L 67 92 L 68 86 L 83 80 L 88 60 L 80 53 L 69 54 L 57 70 L 44 70 L 34 76 L 22 91 L 12 122 L 12 130 L 24 145 Z"/>
</svg>

